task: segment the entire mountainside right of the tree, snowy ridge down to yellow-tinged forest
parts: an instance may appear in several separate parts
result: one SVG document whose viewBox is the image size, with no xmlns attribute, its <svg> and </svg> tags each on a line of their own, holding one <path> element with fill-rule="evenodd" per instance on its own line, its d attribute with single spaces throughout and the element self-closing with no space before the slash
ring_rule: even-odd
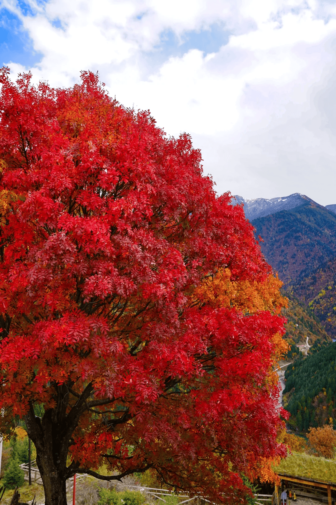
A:
<svg viewBox="0 0 336 505">
<path fill-rule="evenodd" d="M 308 337 L 311 345 L 319 339 L 318 348 L 336 336 L 336 206 L 323 207 L 300 193 L 253 200 L 236 195 L 231 201 L 244 205 L 263 240 L 263 255 L 285 283 L 287 340 Z"/>
</svg>

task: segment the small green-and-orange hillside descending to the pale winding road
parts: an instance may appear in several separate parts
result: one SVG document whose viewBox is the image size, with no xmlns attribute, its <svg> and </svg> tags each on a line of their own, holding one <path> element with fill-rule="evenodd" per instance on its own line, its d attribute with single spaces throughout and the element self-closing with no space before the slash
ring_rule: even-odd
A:
<svg viewBox="0 0 336 505">
<path fill-rule="evenodd" d="M 288 309 L 283 309 L 282 314 L 287 318 L 285 338 L 290 344 L 306 343 L 314 349 L 325 343 L 330 343 L 331 338 L 319 323 L 318 318 L 309 307 L 305 307 L 295 296 L 285 293 L 288 296 Z M 311 351 L 314 350 L 313 348 Z M 292 357 L 289 356 L 289 358 Z"/>
</svg>

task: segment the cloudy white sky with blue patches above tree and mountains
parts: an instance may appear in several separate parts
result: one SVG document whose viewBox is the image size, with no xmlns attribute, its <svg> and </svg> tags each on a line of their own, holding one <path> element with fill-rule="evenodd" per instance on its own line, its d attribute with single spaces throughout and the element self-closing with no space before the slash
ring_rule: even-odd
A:
<svg viewBox="0 0 336 505">
<path fill-rule="evenodd" d="M 0 59 L 53 86 L 98 71 L 218 193 L 336 204 L 336 0 L 0 0 Z"/>
</svg>

